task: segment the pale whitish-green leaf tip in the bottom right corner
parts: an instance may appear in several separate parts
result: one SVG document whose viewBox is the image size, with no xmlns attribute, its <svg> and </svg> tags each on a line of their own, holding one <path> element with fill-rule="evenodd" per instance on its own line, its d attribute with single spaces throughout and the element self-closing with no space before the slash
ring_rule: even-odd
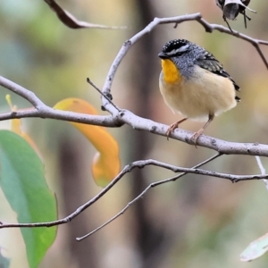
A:
<svg viewBox="0 0 268 268">
<path fill-rule="evenodd" d="M 268 251 L 268 233 L 251 242 L 248 247 L 241 253 L 240 260 L 242 262 L 250 262 L 264 255 Z"/>
</svg>

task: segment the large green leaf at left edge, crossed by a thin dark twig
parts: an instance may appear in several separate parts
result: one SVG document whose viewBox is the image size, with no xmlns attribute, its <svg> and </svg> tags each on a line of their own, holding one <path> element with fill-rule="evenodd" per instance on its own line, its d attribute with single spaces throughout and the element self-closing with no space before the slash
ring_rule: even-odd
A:
<svg viewBox="0 0 268 268">
<path fill-rule="evenodd" d="M 21 136 L 0 130 L 0 186 L 18 222 L 56 220 L 54 194 L 46 185 L 43 163 Z M 21 228 L 29 267 L 38 267 L 52 245 L 56 228 Z"/>
</svg>

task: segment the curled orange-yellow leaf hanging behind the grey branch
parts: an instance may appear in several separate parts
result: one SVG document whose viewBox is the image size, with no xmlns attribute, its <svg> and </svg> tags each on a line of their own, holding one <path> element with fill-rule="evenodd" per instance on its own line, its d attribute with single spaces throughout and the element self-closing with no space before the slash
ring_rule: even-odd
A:
<svg viewBox="0 0 268 268">
<path fill-rule="evenodd" d="M 56 105 L 54 109 L 76 113 L 97 114 L 96 109 L 86 101 L 79 98 L 66 98 Z M 96 184 L 105 187 L 119 173 L 120 159 L 119 147 L 116 140 L 104 128 L 83 123 L 71 122 L 98 151 L 92 163 L 92 174 Z"/>
</svg>

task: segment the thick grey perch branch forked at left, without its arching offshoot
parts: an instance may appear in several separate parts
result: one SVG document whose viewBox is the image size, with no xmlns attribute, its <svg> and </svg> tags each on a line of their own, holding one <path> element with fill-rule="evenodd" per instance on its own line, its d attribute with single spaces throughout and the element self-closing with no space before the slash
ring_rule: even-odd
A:
<svg viewBox="0 0 268 268">
<path fill-rule="evenodd" d="M 26 110 L 13 111 L 11 113 L 2 113 L 0 114 L 0 121 L 14 118 L 38 117 L 63 121 L 75 121 L 110 128 L 121 127 L 121 125 L 126 123 L 135 130 L 147 130 L 164 137 L 166 136 L 166 131 L 169 128 L 169 126 L 164 125 L 162 123 L 139 117 L 138 115 L 131 113 L 128 110 L 121 110 L 117 106 L 112 105 L 111 101 L 108 102 L 106 98 L 105 100 L 113 106 L 113 115 L 92 115 L 85 113 L 73 113 L 61 110 L 54 110 L 53 108 L 45 105 L 41 100 L 39 100 L 38 96 L 36 96 L 33 92 L 29 91 L 26 88 L 22 88 L 13 81 L 7 80 L 1 76 L 0 85 L 24 97 L 32 105 L 35 106 L 35 108 L 29 108 Z M 190 145 L 196 145 L 190 139 L 192 134 L 193 133 L 188 130 L 177 129 L 172 133 L 170 138 L 178 139 Z M 200 136 L 200 138 L 198 138 L 197 146 L 210 148 L 225 155 L 268 156 L 267 145 L 259 143 L 229 142 L 205 135 L 202 135 Z"/>
</svg>

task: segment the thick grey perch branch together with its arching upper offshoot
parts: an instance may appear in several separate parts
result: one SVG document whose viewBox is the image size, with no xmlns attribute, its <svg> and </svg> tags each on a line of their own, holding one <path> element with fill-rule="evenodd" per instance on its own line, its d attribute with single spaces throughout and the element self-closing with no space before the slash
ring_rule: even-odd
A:
<svg viewBox="0 0 268 268">
<path fill-rule="evenodd" d="M 4 79 L 4 77 L 0 76 L 0 85 L 24 97 L 36 108 L 28 111 L 4 113 L 0 115 L 0 120 L 22 118 L 22 117 L 40 117 L 40 118 L 52 118 L 64 121 L 76 121 L 105 127 L 119 127 L 123 123 L 127 123 L 133 129 L 149 130 L 155 134 L 165 136 L 165 132 L 167 130 L 166 125 L 138 117 L 137 115 L 130 113 L 130 111 L 127 110 L 121 111 L 121 109 L 118 108 L 116 105 L 113 105 L 113 103 L 109 99 L 107 99 L 106 96 L 110 94 L 113 78 L 119 67 L 119 64 L 121 63 L 121 60 L 123 59 L 125 54 L 127 54 L 130 47 L 138 41 L 138 39 L 142 38 L 152 29 L 155 29 L 155 27 L 159 24 L 174 23 L 176 26 L 183 21 L 197 21 L 205 28 L 207 32 L 213 32 L 213 30 L 215 29 L 226 34 L 233 35 L 237 38 L 246 40 L 247 42 L 255 46 L 256 50 L 263 59 L 266 67 L 268 68 L 267 61 L 259 47 L 260 44 L 268 45 L 267 41 L 250 38 L 246 35 L 239 33 L 238 31 L 230 31 L 230 29 L 223 27 L 222 25 L 210 24 L 202 18 L 200 13 L 171 17 L 171 18 L 155 18 L 155 20 L 150 22 L 145 29 L 139 31 L 135 36 L 133 36 L 123 44 L 121 50 L 116 55 L 110 70 L 108 71 L 105 80 L 105 85 L 103 88 L 103 94 L 105 96 L 102 97 L 102 104 L 105 110 L 111 113 L 112 116 L 96 116 L 81 113 L 56 111 L 46 106 L 40 99 L 38 99 L 38 97 L 33 92 L 29 91 L 26 88 L 22 88 L 21 86 L 13 83 L 12 81 Z M 186 130 L 176 130 L 174 131 L 174 133 L 172 133 L 172 138 L 179 139 L 180 141 L 184 141 L 192 145 L 193 142 L 190 140 L 191 135 L 192 133 Z M 210 138 L 204 135 L 198 138 L 197 146 L 214 149 L 217 152 L 228 155 L 233 154 L 233 155 L 268 156 L 268 146 L 266 145 L 257 143 L 247 143 L 247 144 L 233 143 L 217 138 Z"/>
</svg>

